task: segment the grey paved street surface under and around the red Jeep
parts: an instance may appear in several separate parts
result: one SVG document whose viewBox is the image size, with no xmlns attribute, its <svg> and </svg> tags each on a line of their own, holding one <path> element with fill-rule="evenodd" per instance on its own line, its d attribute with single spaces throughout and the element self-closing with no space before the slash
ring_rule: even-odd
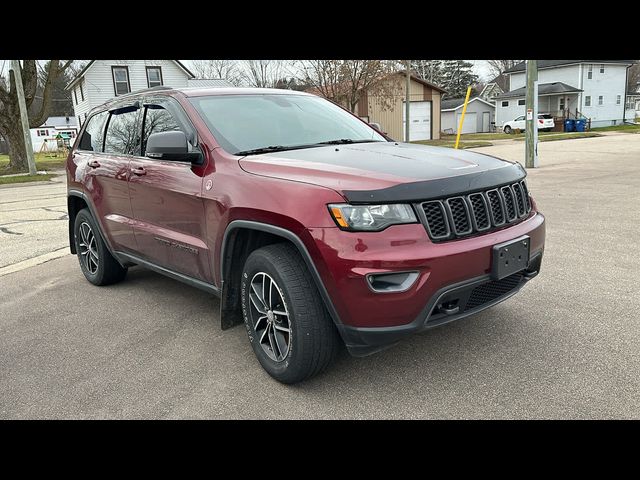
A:
<svg viewBox="0 0 640 480">
<path fill-rule="evenodd" d="M 523 162 L 524 142 L 476 151 Z M 262 370 L 244 327 L 220 329 L 215 297 L 140 267 L 103 288 L 71 255 L 0 276 L 0 418 L 638 419 L 640 135 L 539 153 L 537 278 L 294 386 Z M 65 196 L 64 184 L 0 189 L 0 267 L 66 246 Z M 30 223 L 48 247 L 24 240 Z"/>
</svg>

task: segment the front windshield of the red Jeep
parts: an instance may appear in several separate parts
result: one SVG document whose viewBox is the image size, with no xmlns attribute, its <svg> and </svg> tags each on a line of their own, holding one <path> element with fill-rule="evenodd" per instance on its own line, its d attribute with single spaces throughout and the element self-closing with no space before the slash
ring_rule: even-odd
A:
<svg viewBox="0 0 640 480">
<path fill-rule="evenodd" d="M 326 143 L 384 142 L 367 124 L 320 97 L 211 95 L 189 99 L 222 148 L 233 154 Z"/>
</svg>

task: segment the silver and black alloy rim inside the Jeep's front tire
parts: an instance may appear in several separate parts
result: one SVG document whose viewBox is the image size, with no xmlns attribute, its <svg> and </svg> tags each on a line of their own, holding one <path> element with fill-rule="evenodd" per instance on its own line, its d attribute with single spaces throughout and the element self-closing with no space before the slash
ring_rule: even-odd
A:
<svg viewBox="0 0 640 480">
<path fill-rule="evenodd" d="M 291 323 L 282 291 L 271 276 L 256 273 L 251 279 L 251 322 L 260 346 L 276 362 L 283 361 L 291 346 Z"/>
</svg>

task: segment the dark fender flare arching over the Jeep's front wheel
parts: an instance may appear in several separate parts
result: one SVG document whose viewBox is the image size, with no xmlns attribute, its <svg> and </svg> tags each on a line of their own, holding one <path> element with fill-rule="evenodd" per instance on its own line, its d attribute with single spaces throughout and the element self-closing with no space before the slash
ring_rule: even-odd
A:
<svg viewBox="0 0 640 480">
<path fill-rule="evenodd" d="M 342 335 L 343 324 L 340 319 L 340 315 L 338 315 L 338 312 L 335 306 L 333 305 L 331 297 L 329 296 L 329 292 L 327 292 L 327 289 L 324 286 L 324 283 L 322 282 L 320 273 L 318 273 L 318 269 L 313 263 L 313 259 L 311 258 L 311 255 L 309 254 L 307 247 L 302 242 L 302 240 L 300 240 L 300 237 L 298 237 L 298 235 L 296 235 L 292 231 L 287 230 L 285 228 L 277 227 L 275 225 L 271 225 L 268 223 L 255 222 L 251 220 L 234 220 L 230 222 L 227 225 L 227 228 L 225 229 L 224 236 L 222 239 L 222 248 L 220 249 L 220 279 L 221 279 L 220 290 L 222 292 L 222 299 L 220 301 L 220 309 L 221 309 L 220 318 L 222 322 L 222 328 L 223 329 L 229 328 L 231 325 L 235 324 L 235 323 L 226 324 L 223 318 L 223 310 L 224 310 L 223 304 L 224 304 L 224 292 L 225 292 L 224 279 L 225 279 L 225 273 L 230 268 L 230 265 L 229 265 L 230 262 L 225 261 L 225 250 L 228 248 L 230 235 L 233 233 L 234 230 L 237 230 L 239 228 L 248 229 L 248 230 L 259 230 L 262 232 L 271 233 L 278 237 L 282 237 L 286 240 L 289 240 L 291 243 L 293 243 L 293 245 L 295 245 L 296 249 L 300 253 L 300 256 L 303 258 L 305 264 L 307 265 L 307 268 L 309 269 L 309 273 L 311 273 L 311 277 L 313 278 L 313 281 L 316 284 L 316 287 L 318 288 L 318 292 L 320 292 L 320 297 L 322 298 L 322 301 L 324 302 L 324 305 L 327 311 L 329 312 L 329 315 L 331 316 L 333 323 L 336 325 L 338 331 L 340 332 L 340 335 Z"/>
</svg>

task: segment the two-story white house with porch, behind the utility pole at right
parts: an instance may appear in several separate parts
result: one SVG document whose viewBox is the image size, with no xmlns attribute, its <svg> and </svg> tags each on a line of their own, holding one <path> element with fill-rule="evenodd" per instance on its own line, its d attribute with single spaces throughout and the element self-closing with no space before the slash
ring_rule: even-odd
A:
<svg viewBox="0 0 640 480">
<path fill-rule="evenodd" d="M 633 60 L 538 60 L 538 112 L 588 118 L 592 127 L 633 121 L 625 110 L 627 69 Z M 495 97 L 496 125 L 525 114 L 525 62 L 505 72 L 510 91 Z"/>
</svg>

